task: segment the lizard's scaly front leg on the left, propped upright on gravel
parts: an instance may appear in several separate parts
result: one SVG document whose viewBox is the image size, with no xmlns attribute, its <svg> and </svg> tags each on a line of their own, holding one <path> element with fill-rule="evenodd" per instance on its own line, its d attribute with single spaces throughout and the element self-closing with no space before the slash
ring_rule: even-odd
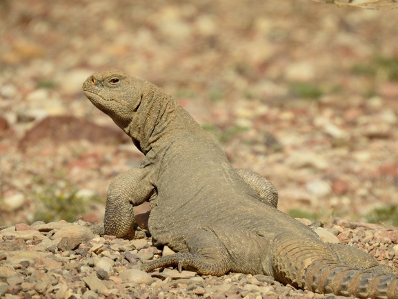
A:
<svg viewBox="0 0 398 299">
<path fill-rule="evenodd" d="M 148 168 L 134 168 L 121 173 L 110 183 L 106 195 L 104 228 L 106 235 L 133 239 L 134 212 L 138 206 L 155 195 L 155 187 L 150 183 Z"/>
</svg>

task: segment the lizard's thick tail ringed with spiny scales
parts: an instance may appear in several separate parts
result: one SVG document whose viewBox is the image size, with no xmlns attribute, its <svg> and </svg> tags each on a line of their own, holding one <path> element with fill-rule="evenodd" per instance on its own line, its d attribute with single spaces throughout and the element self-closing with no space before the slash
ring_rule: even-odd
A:
<svg viewBox="0 0 398 299">
<path fill-rule="evenodd" d="M 398 276 L 380 265 L 361 269 L 344 261 L 328 244 L 279 238 L 274 243 L 275 278 L 315 293 L 357 298 L 398 298 Z"/>
</svg>

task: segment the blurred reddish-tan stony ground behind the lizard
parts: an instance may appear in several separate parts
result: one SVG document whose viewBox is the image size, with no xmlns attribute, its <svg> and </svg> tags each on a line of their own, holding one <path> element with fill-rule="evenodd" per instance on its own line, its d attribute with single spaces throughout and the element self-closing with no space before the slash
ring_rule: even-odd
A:
<svg viewBox="0 0 398 299">
<path fill-rule="evenodd" d="M 397 10 L 309 0 L 0 1 L 0 226 L 103 220 L 143 155 L 81 90 L 161 86 L 279 209 L 398 225 Z M 140 210 L 137 211 L 139 213 Z"/>
</svg>

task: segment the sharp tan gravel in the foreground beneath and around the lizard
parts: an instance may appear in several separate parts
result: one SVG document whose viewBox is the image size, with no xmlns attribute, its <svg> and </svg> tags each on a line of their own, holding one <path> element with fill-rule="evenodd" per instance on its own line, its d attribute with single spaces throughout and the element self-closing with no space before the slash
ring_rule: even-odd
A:
<svg viewBox="0 0 398 299">
<path fill-rule="evenodd" d="M 398 229 L 336 220 L 329 228 L 311 224 L 326 242 L 359 247 L 398 270 Z M 228 273 L 221 277 L 139 265 L 170 249 L 152 247 L 150 238 L 122 240 L 97 235 L 101 226 L 79 221 L 17 224 L 0 231 L 0 298 L 337 298 L 283 285 L 264 275 Z M 145 232 L 139 231 L 141 237 Z M 148 233 L 148 232 L 146 232 Z M 337 235 L 337 237 L 336 237 Z M 245 244 L 242 244 L 244 247 Z M 341 297 L 343 298 L 343 297 Z"/>
</svg>

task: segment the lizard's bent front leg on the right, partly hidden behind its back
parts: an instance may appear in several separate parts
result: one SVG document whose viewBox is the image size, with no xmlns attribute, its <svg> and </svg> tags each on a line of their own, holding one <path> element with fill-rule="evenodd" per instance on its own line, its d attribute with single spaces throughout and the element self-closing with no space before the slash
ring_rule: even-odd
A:
<svg viewBox="0 0 398 299">
<path fill-rule="evenodd" d="M 248 169 L 236 168 L 235 170 L 243 181 L 261 197 L 261 202 L 271 204 L 275 208 L 278 207 L 278 191 L 270 181 Z"/>
</svg>

